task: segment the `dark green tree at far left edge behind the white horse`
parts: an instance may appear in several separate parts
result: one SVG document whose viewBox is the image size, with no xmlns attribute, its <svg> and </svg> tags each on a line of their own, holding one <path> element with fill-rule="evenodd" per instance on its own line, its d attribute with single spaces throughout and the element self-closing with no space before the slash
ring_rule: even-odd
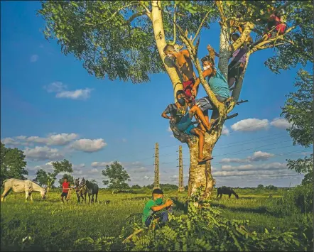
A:
<svg viewBox="0 0 314 252">
<path fill-rule="evenodd" d="M 23 175 L 28 175 L 26 167 L 25 155 L 18 148 L 6 148 L 4 143 L 1 143 L 1 184 L 2 181 L 8 178 L 17 178 L 26 180 Z"/>
</svg>

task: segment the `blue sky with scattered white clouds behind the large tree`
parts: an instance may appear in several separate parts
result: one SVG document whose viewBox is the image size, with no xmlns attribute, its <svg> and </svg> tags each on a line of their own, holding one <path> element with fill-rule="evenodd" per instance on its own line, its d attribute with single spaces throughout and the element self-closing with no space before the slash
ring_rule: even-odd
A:
<svg viewBox="0 0 314 252">
<path fill-rule="evenodd" d="M 158 142 L 161 183 L 177 184 L 180 143 L 168 131 L 168 120 L 161 118 L 173 102 L 168 76 L 152 75 L 144 84 L 97 80 L 82 62 L 60 53 L 55 41 L 45 40 L 37 9 L 39 1 L 1 2 L 1 141 L 24 150 L 28 177 L 38 168 L 49 170 L 53 160 L 67 158 L 75 177 L 94 178 L 102 185 L 104 165 L 118 160 L 131 176 L 130 185 L 148 185 Z M 219 50 L 217 24 L 202 31 L 200 57 L 208 43 Z M 287 122 L 278 120 L 299 67 L 275 75 L 264 67 L 273 54 L 264 50 L 249 59 L 240 96 L 249 102 L 234 109 L 239 116 L 226 121 L 213 153 L 217 186 L 286 187 L 302 180 L 286 168 L 286 158 L 311 150 L 292 146 Z M 200 90 L 199 96 L 205 96 Z M 189 153 L 184 144 L 183 157 L 186 185 Z"/>
</svg>

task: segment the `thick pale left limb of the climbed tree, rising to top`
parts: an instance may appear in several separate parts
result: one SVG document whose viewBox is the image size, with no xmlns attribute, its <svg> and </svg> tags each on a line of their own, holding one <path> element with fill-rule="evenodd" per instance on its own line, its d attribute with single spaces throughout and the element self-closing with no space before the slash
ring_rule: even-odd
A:
<svg viewBox="0 0 314 252">
<path fill-rule="evenodd" d="M 167 43 L 165 38 L 165 31 L 163 30 L 161 4 L 162 1 L 151 1 L 151 22 L 153 23 L 153 34 L 155 36 L 158 53 L 161 56 L 163 65 L 165 66 L 173 84 L 173 95 L 175 97 L 175 93 L 178 90 L 183 89 L 183 86 L 176 68 L 173 66 L 172 62 L 170 62 L 168 57 L 166 57 L 165 53 L 163 53 L 163 48 L 165 48 Z"/>
</svg>

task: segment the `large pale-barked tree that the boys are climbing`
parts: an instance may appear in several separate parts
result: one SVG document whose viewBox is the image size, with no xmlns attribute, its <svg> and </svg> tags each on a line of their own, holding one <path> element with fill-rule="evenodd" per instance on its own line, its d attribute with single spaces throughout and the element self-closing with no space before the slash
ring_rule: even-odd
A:
<svg viewBox="0 0 314 252">
<path fill-rule="evenodd" d="M 285 9 L 288 29 L 283 35 L 259 41 L 270 15 L 267 9 Z M 235 85 L 234 100 L 227 111 L 202 78 L 197 57 L 202 28 L 220 22 L 218 66 L 226 77 L 229 56 L 242 47 L 249 36 L 256 43 L 247 53 L 247 59 L 259 50 L 274 48 L 274 56 L 265 62 L 273 72 L 313 60 L 311 1 L 45 1 L 38 13 L 46 22 L 45 38 L 58 40 L 65 55 L 75 55 L 82 60 L 83 67 L 98 78 L 107 75 L 109 80 L 139 83 L 148 82 L 149 74 L 166 72 L 175 94 L 182 89 L 182 77 L 163 48 L 166 43 L 177 43 L 177 48 L 185 45 L 202 86 L 215 105 L 212 119 L 220 117 L 215 130 L 205 136 L 204 155 L 211 155 L 227 114 L 237 105 L 246 68 Z M 232 43 L 231 34 L 239 25 L 243 33 Z M 170 128 L 175 138 L 190 148 L 189 195 L 202 186 L 205 188 L 203 197 L 210 197 L 214 184 L 211 165 L 210 161 L 197 165 L 197 138 L 180 133 L 172 124 Z"/>
</svg>

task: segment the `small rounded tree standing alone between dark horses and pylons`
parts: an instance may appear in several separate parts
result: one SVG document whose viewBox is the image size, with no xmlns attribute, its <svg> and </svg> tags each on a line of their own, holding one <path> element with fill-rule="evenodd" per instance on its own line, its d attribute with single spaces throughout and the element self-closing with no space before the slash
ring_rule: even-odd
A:
<svg viewBox="0 0 314 252">
<path fill-rule="evenodd" d="M 108 185 L 112 189 L 127 189 L 129 185 L 126 181 L 131 181 L 130 176 L 124 167 L 117 161 L 114 161 L 111 165 L 106 165 L 105 170 L 102 170 L 102 175 L 108 178 L 103 180 L 104 185 Z"/>
</svg>

